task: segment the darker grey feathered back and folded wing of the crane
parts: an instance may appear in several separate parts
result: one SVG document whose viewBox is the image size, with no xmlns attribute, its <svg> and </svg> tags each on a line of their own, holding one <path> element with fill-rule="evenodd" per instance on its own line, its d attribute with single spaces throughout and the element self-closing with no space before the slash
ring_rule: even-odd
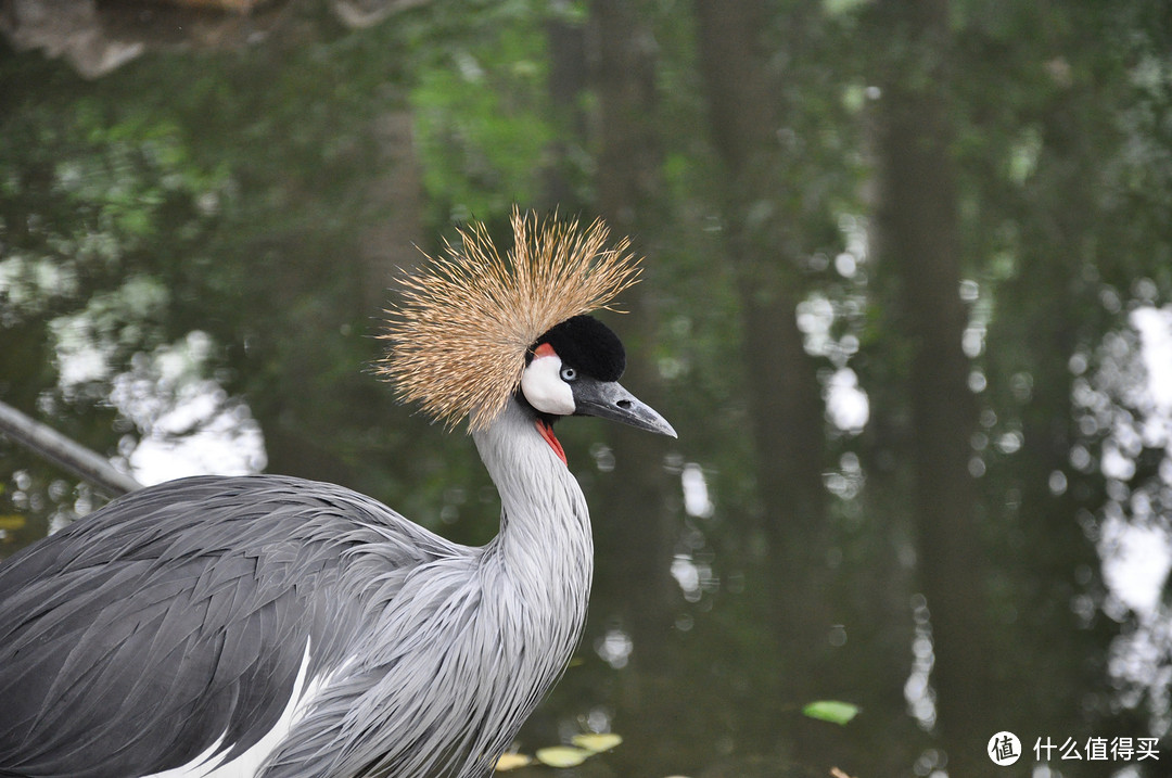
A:
<svg viewBox="0 0 1172 778">
<path fill-rule="evenodd" d="M 389 598 L 471 552 L 295 478 L 116 500 L 0 566 L 0 774 L 150 774 L 217 742 L 231 762 L 281 721 L 299 675 L 346 660 L 370 619 L 354 581 Z"/>
</svg>

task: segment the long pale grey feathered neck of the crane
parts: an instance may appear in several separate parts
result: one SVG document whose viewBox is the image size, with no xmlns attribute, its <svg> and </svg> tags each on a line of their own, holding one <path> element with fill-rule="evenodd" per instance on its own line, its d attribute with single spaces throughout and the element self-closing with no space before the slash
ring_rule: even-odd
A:
<svg viewBox="0 0 1172 778">
<path fill-rule="evenodd" d="M 577 479 L 517 401 L 473 438 L 502 504 L 500 534 L 485 548 L 485 565 L 498 565 L 504 580 L 496 582 L 516 586 L 515 594 L 541 608 L 537 615 L 559 622 L 547 625 L 558 642 L 577 643 L 594 571 L 590 513 Z M 567 628 L 572 637 L 561 634 Z"/>
</svg>

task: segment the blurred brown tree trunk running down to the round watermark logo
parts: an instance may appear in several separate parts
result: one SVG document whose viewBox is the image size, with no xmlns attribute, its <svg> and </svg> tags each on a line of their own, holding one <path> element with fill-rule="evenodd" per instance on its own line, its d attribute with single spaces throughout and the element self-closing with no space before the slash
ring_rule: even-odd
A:
<svg viewBox="0 0 1172 778">
<path fill-rule="evenodd" d="M 895 53 L 880 103 L 880 261 L 897 275 L 911 363 L 912 510 L 922 592 L 931 613 L 936 728 L 949 773 L 987 771 L 997 731 L 988 671 L 986 559 L 969 472 L 976 409 L 961 349 L 960 232 L 949 144 L 948 4 L 888 2 Z"/>
</svg>

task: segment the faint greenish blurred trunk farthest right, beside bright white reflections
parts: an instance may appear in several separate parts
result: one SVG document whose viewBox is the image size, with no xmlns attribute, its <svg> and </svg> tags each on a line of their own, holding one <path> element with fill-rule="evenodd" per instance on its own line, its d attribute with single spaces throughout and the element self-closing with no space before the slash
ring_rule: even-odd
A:
<svg viewBox="0 0 1172 778">
<path fill-rule="evenodd" d="M 1050 79 L 1033 95 L 1042 141 L 1035 171 L 997 192 L 1003 209 L 997 216 L 1017 217 L 1029 260 L 996 289 L 999 315 L 990 325 L 988 359 L 990 388 L 1000 391 L 999 412 L 1014 421 L 1017 416 L 1022 434 L 1021 451 L 999 473 L 1002 489 L 1016 498 L 1006 499 L 1002 535 L 1008 537 L 1001 540 L 999 560 L 1007 560 L 1015 589 L 1024 593 L 1013 602 L 1021 615 L 1001 630 L 997 654 L 1004 658 L 999 670 L 1014 688 L 1028 690 L 1016 695 L 1007 712 L 1018 717 L 1013 723 L 1022 729 L 1076 739 L 1126 737 L 1145 726 L 1142 707 L 1111 711 L 1109 722 L 1089 715 L 1092 695 L 1110 699 L 1117 694 L 1110 688 L 1108 661 L 1119 625 L 1071 607 L 1106 588 L 1095 574 L 1102 560 L 1085 524 L 1109 500 L 1099 470 L 1071 466 L 1072 448 L 1088 443 L 1072 403 L 1072 382 L 1085 368 L 1072 369 L 1071 357 L 1089 355 L 1089 347 L 1119 325 L 1101 300 L 1102 284 L 1125 287 L 1133 281 L 1126 271 L 1111 278 L 1112 269 L 1123 269 L 1112 268 L 1113 258 L 1130 252 L 1110 238 L 1120 220 L 1104 212 L 1103 190 L 1092 184 L 1102 180 L 1104 159 L 1126 143 L 1116 124 L 1119 93 L 1106 86 L 1116 80 L 1076 82 L 1070 74 L 1071 68 L 1115 64 L 1118 42 L 1102 34 L 1113 12 L 1082 13 L 1088 11 L 1090 18 L 1070 12 L 1081 23 L 1037 20 L 1040 27 L 1062 30 L 1055 48 L 1070 53 L 1072 62 L 1048 62 Z M 1034 61 L 1043 56 L 1038 52 Z M 1112 246 L 1112 259 L 1096 262 L 1092 258 L 1101 257 L 1104 245 Z M 1022 662 L 1026 653 L 1035 658 Z"/>
</svg>

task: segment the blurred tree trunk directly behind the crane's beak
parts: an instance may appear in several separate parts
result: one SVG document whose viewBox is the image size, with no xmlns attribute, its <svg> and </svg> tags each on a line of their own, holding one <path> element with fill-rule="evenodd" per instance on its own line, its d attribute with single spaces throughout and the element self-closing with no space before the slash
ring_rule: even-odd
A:
<svg viewBox="0 0 1172 778">
<path fill-rule="evenodd" d="M 592 0 L 590 9 L 588 73 L 598 100 L 597 135 L 590 139 L 597 159 L 594 205 L 614 239 L 632 237 L 633 251 L 648 257 L 643 272 L 654 274 L 655 236 L 663 219 L 650 14 L 645 4 L 622 0 Z M 640 284 L 625 292 L 621 307 L 631 313 L 609 321 L 628 348 L 624 383 L 653 408 L 662 408 L 654 359 L 660 316 L 649 294 L 654 286 Z M 672 758 L 660 751 L 662 726 L 677 714 L 655 689 L 666 670 L 665 651 L 680 602 L 670 575 L 675 527 L 666 510 L 668 493 L 679 486 L 662 466 L 666 438 L 613 425 L 606 435 L 614 468 L 599 473 L 604 497 L 595 519 L 595 587 L 600 599 L 620 608 L 597 615 L 616 620 L 632 637 L 631 662 L 639 671 L 622 674 L 619 694 L 639 712 L 622 722 L 621 731 L 645 755 L 634 762 L 634 772 L 652 774 Z"/>
</svg>

